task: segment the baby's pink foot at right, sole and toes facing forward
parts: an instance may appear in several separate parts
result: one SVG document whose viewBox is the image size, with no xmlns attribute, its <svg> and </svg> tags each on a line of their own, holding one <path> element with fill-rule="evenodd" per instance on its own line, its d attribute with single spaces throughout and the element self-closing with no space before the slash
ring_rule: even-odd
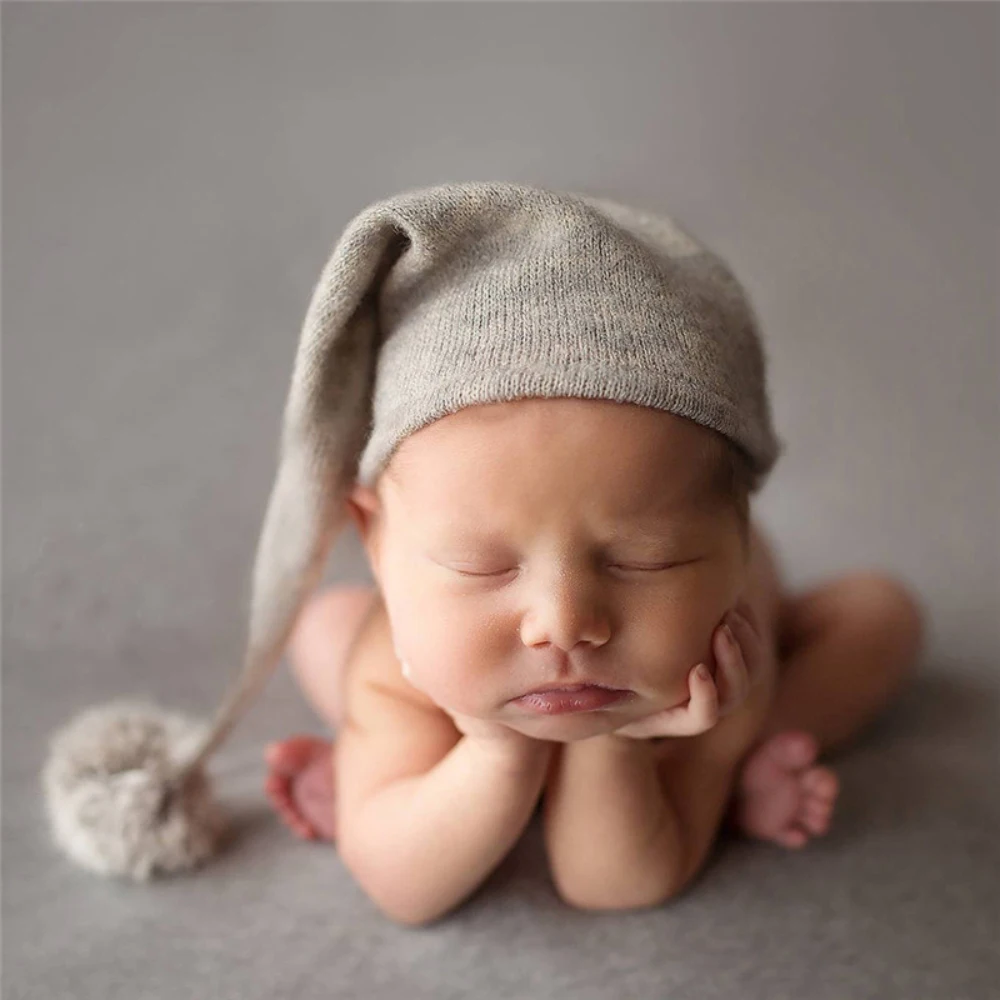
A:
<svg viewBox="0 0 1000 1000">
<path fill-rule="evenodd" d="M 759 746 L 737 783 L 736 825 L 782 847 L 804 847 L 826 833 L 840 783 L 829 768 L 813 766 L 818 750 L 805 732 L 778 733 Z"/>
</svg>

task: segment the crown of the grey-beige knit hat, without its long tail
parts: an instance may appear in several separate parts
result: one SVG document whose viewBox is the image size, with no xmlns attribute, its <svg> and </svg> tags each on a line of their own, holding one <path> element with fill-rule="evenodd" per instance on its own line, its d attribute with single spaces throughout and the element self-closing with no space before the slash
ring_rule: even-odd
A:
<svg viewBox="0 0 1000 1000">
<path fill-rule="evenodd" d="M 667 410 L 740 445 L 758 486 L 770 472 L 781 446 L 751 307 L 720 258 L 672 220 L 464 184 L 374 205 L 346 238 L 387 226 L 402 256 L 377 292 L 384 340 L 360 482 L 374 485 L 400 442 L 433 420 L 524 396 Z"/>
</svg>

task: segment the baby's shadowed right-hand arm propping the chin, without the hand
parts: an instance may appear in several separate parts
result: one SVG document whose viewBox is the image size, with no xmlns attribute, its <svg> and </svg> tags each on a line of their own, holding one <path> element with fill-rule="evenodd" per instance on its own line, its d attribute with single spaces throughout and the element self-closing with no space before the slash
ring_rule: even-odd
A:
<svg viewBox="0 0 1000 1000">
<path fill-rule="evenodd" d="M 741 647 L 754 645 L 748 629 L 734 626 Z M 719 670 L 728 669 L 717 648 Z M 567 902 L 586 909 L 653 906 L 700 869 L 771 700 L 768 678 L 755 673 L 756 663 L 748 666 L 756 686 L 702 735 L 654 745 L 611 734 L 561 748 L 546 790 L 545 836 Z"/>
</svg>

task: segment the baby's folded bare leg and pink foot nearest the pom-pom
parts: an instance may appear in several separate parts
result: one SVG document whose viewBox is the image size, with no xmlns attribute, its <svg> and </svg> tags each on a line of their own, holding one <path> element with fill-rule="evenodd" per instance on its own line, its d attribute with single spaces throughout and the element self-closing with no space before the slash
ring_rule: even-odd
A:
<svg viewBox="0 0 1000 1000">
<path fill-rule="evenodd" d="M 341 719 L 344 664 L 374 603 L 373 587 L 331 587 L 302 609 L 288 643 L 288 660 L 324 722 Z M 333 838 L 333 757 L 328 739 L 298 735 L 267 747 L 265 791 L 278 815 L 301 837 Z"/>
</svg>

